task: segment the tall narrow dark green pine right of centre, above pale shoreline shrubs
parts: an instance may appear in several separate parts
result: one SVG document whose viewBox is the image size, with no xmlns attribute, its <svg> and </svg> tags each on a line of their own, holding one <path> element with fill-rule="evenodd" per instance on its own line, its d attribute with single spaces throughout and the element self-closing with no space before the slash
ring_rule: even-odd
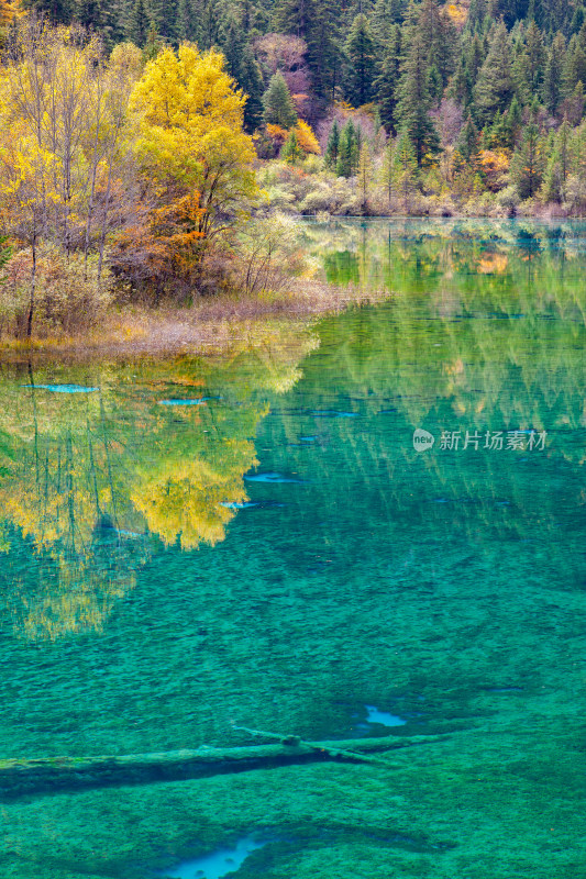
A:
<svg viewBox="0 0 586 879">
<path fill-rule="evenodd" d="M 399 96 L 397 121 L 401 129 L 407 130 L 420 167 L 427 154 L 439 151 L 440 138 L 429 112 L 428 71 L 419 35 L 416 35 L 402 66 Z"/>
</svg>

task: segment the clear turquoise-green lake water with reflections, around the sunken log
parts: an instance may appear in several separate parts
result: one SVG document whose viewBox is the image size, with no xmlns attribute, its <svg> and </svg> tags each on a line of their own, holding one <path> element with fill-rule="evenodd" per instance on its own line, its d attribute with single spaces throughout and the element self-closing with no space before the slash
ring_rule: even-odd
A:
<svg viewBox="0 0 586 879">
<path fill-rule="evenodd" d="M 388 299 L 0 368 L 0 768 L 430 739 L 7 797 L 2 877 L 586 877 L 586 225 L 299 234 Z"/>
</svg>

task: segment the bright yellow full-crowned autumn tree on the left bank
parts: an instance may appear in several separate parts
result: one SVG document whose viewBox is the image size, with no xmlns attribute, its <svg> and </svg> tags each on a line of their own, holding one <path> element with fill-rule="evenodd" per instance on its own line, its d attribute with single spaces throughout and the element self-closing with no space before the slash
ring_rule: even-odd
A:
<svg viewBox="0 0 586 879">
<path fill-rule="evenodd" d="M 159 196 L 197 197 L 192 229 L 204 243 L 226 229 L 257 193 L 255 151 L 243 131 L 245 96 L 224 70 L 224 58 L 184 44 L 150 62 L 131 96 L 139 156 Z"/>
</svg>

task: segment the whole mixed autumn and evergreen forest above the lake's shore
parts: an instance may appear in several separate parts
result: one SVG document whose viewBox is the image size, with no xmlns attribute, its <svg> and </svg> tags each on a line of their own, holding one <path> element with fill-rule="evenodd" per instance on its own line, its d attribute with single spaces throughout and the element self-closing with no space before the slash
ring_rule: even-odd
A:
<svg viewBox="0 0 586 879">
<path fill-rule="evenodd" d="M 274 292 L 303 270 L 288 215 L 586 208 L 582 0 L 0 0 L 0 18 L 3 336 Z"/>
</svg>

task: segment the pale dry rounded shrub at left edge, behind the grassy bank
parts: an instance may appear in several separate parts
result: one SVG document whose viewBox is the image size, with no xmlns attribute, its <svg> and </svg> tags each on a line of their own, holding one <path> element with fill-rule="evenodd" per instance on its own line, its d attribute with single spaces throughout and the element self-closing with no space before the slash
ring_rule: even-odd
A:
<svg viewBox="0 0 586 879">
<path fill-rule="evenodd" d="M 4 268 L 0 286 L 0 336 L 24 338 L 31 302 L 33 255 L 18 251 Z M 111 302 L 108 270 L 98 278 L 98 257 L 69 257 L 56 247 L 36 254 L 33 336 L 75 335 L 95 329 Z"/>
</svg>

